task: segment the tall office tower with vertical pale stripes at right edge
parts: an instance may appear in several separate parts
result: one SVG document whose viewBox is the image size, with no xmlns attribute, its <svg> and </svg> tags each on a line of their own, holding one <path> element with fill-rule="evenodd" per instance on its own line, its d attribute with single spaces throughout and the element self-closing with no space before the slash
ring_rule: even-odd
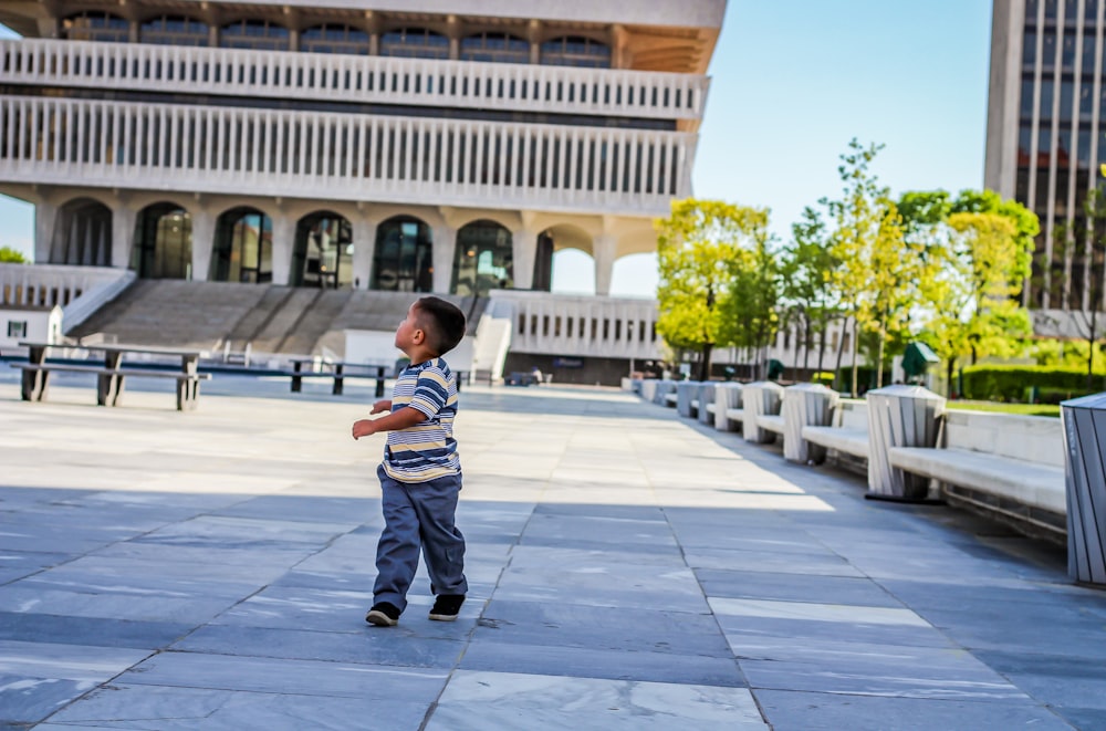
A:
<svg viewBox="0 0 1106 731">
<path fill-rule="evenodd" d="M 1106 303 L 1106 252 L 1087 236 L 1087 190 L 1106 161 L 1103 0 L 994 0 L 984 186 L 1036 212 L 1027 306 Z"/>
</svg>

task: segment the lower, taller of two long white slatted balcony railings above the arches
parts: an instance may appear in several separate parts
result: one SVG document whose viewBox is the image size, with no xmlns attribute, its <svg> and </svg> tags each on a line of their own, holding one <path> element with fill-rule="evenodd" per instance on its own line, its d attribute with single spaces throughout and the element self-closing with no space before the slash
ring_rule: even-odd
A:
<svg viewBox="0 0 1106 731">
<path fill-rule="evenodd" d="M 661 216 L 696 135 L 0 98 L 0 180 Z"/>
</svg>

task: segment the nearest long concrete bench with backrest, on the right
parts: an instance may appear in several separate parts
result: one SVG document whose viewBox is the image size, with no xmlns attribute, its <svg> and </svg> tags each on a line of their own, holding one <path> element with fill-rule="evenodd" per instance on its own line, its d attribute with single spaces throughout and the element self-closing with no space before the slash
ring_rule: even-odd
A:
<svg viewBox="0 0 1106 731">
<path fill-rule="evenodd" d="M 888 460 L 897 469 L 941 482 L 954 502 L 1053 535 L 1066 532 L 1060 419 L 950 410 L 941 441 L 943 447 L 936 449 L 893 447 Z"/>
</svg>

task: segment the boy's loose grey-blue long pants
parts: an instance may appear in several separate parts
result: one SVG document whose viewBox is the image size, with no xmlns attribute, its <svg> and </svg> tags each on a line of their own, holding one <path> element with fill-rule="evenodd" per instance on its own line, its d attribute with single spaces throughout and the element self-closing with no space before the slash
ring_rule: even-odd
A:
<svg viewBox="0 0 1106 731">
<path fill-rule="evenodd" d="M 376 546 L 374 602 L 407 608 L 420 547 L 434 594 L 468 593 L 465 536 L 453 524 L 461 476 L 408 483 L 393 480 L 384 467 L 376 474 L 384 493 L 384 532 Z"/>
</svg>

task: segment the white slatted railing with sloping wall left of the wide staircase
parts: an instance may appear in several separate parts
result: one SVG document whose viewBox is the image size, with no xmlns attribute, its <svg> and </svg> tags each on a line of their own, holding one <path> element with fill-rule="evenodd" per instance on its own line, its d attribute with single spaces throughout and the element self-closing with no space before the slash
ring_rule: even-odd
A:
<svg viewBox="0 0 1106 731">
<path fill-rule="evenodd" d="M 126 269 L 63 264 L 0 264 L 0 302 L 59 305 L 62 332 L 76 327 L 135 280 Z"/>
</svg>

